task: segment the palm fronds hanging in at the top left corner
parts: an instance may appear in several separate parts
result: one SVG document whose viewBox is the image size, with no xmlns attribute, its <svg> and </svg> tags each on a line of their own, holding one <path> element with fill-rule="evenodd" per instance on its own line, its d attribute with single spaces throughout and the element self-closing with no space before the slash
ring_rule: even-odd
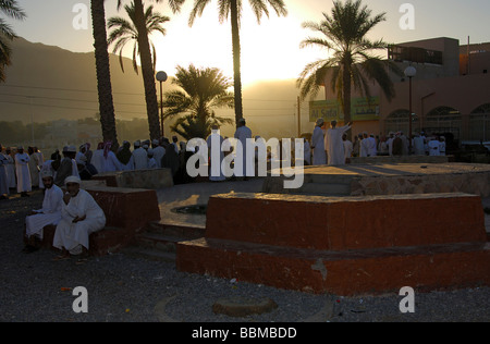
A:
<svg viewBox="0 0 490 344">
<path fill-rule="evenodd" d="M 20 21 L 26 17 L 16 0 L 0 0 L 0 13 Z M 4 69 L 12 63 L 10 59 L 12 49 L 9 46 L 9 41 L 12 41 L 14 38 L 16 36 L 12 27 L 0 17 L 0 82 L 5 81 Z"/>
</svg>

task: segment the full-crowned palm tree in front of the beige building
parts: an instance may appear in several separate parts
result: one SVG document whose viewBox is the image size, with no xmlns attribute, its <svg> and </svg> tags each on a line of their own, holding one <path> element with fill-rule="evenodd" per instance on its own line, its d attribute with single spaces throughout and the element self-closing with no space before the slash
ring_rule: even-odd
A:
<svg viewBox="0 0 490 344">
<path fill-rule="evenodd" d="M 371 16 L 371 11 L 362 5 L 360 0 L 347 0 L 345 4 L 333 1 L 331 16 L 323 13 L 324 20 L 317 24 L 306 22 L 303 27 L 322 34 L 323 38 L 308 37 L 301 47 L 316 46 L 327 48 L 330 57 L 307 64 L 297 79 L 301 97 L 315 97 L 320 85 L 330 76 L 330 86 L 336 91 L 344 112 L 344 122 L 351 122 L 352 85 L 366 97 L 370 96 L 369 82 L 376 81 L 389 100 L 394 97 L 394 86 L 389 69 L 400 73 L 394 63 L 373 56 L 371 51 L 388 48 L 382 39 L 369 40 L 367 34 L 379 23 L 385 21 L 385 13 Z M 387 69 L 388 66 L 388 69 Z M 326 86 L 327 87 L 327 86 Z"/>
</svg>

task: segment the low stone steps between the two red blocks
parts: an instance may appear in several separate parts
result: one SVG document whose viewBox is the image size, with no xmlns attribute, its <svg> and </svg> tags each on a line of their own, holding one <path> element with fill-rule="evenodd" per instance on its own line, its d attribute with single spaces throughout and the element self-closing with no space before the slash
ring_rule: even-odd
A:
<svg viewBox="0 0 490 344">
<path fill-rule="evenodd" d="M 133 245 L 123 254 L 148 260 L 175 261 L 176 244 L 205 236 L 205 226 L 197 224 L 150 222 L 143 233 L 136 235 Z"/>
</svg>

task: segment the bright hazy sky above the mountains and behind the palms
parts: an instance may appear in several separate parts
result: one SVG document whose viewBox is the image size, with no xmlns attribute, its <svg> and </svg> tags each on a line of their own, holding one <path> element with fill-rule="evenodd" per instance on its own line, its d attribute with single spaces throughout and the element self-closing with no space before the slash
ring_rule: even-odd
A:
<svg viewBox="0 0 490 344">
<path fill-rule="evenodd" d="M 77 13 L 75 4 L 85 4 L 89 10 L 89 0 L 19 0 L 27 12 L 25 22 L 9 21 L 19 36 L 34 42 L 59 46 L 72 51 L 93 50 L 91 21 L 88 12 L 88 28 L 75 29 L 73 20 Z M 125 1 L 126 3 L 130 0 Z M 147 3 L 149 1 L 146 1 Z M 302 28 L 306 21 L 319 22 L 322 12 L 330 13 L 331 0 L 285 0 L 287 17 L 264 17 L 261 25 L 249 11 L 244 0 L 242 23 L 242 73 L 244 83 L 269 78 L 295 78 L 305 64 L 326 56 L 326 51 L 313 48 L 299 49 L 299 42 L 310 32 Z M 158 49 L 158 70 L 173 75 L 175 65 L 217 66 L 232 76 L 231 28 L 229 23 L 219 24 L 217 0 L 205 10 L 201 17 L 188 27 L 187 21 L 194 0 L 186 0 L 180 14 L 172 14 L 168 1 L 156 4 L 156 9 L 171 17 L 167 36 L 154 36 L 151 39 Z M 387 12 L 388 21 L 378 25 L 372 38 L 384 38 L 389 42 L 403 42 L 433 37 L 452 37 L 466 44 L 490 41 L 488 15 L 489 0 L 365 0 L 373 12 Z M 402 29 L 400 8 L 411 3 L 415 9 L 415 29 Z M 107 17 L 125 16 L 123 10 L 115 10 L 117 0 L 106 1 Z M 127 48 L 130 56 L 132 48 Z M 128 66 L 127 66 L 128 67 Z"/>
</svg>

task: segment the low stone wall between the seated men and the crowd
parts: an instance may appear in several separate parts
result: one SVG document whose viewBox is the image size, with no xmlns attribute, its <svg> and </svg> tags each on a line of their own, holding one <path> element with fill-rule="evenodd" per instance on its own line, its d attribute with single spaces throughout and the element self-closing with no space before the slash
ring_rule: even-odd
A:
<svg viewBox="0 0 490 344">
<path fill-rule="evenodd" d="M 135 170 L 101 173 L 93 176 L 94 181 L 106 181 L 107 186 L 126 188 L 159 189 L 173 186 L 170 169 Z"/>
</svg>

